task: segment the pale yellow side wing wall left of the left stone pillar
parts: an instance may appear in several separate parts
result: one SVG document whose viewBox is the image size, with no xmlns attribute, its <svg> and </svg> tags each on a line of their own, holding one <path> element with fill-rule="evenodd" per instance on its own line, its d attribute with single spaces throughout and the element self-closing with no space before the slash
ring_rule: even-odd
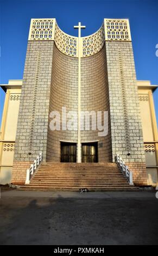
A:
<svg viewBox="0 0 158 256">
<path fill-rule="evenodd" d="M 11 84 L 11 81 L 10 81 Z M 17 86 L 18 84 L 18 86 Z M 5 94 L 2 125 L 0 133 L 0 184 L 11 182 L 14 145 L 17 128 L 18 109 L 20 105 L 22 81 L 10 85 Z"/>
</svg>

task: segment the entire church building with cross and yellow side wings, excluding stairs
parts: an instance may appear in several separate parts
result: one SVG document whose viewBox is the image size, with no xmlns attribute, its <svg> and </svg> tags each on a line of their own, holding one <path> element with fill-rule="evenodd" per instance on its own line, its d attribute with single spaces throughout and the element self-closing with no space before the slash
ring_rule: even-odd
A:
<svg viewBox="0 0 158 256">
<path fill-rule="evenodd" d="M 78 37 L 61 31 L 55 19 L 31 19 L 23 80 L 1 85 L 2 181 L 24 184 L 42 153 L 43 163 L 113 163 L 119 155 L 135 185 L 156 185 L 157 86 L 136 80 L 129 20 L 104 19 L 84 37 L 84 26 L 75 28 Z M 90 114 L 89 129 L 80 113 Z"/>
</svg>

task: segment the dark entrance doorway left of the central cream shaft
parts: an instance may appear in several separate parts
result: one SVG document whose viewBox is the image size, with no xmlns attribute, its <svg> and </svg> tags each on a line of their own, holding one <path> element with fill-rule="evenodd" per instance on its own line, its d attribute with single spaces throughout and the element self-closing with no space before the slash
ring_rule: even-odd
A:
<svg viewBox="0 0 158 256">
<path fill-rule="evenodd" d="M 61 162 L 76 162 L 77 143 L 61 142 Z"/>
</svg>

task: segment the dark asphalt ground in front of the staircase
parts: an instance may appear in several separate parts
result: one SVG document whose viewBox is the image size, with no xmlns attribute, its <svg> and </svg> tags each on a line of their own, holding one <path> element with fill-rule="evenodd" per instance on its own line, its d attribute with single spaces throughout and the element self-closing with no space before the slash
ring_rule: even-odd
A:
<svg viewBox="0 0 158 256">
<path fill-rule="evenodd" d="M 158 245 L 155 192 L 1 193 L 1 245 Z"/>
</svg>

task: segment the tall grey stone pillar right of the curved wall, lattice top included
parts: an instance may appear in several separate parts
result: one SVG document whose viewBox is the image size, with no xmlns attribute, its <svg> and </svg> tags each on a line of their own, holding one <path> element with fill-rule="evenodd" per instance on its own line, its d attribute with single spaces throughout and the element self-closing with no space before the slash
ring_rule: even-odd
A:
<svg viewBox="0 0 158 256">
<path fill-rule="evenodd" d="M 112 157 L 119 154 L 133 171 L 134 183 L 147 184 L 136 72 L 128 20 L 105 19 Z"/>
</svg>

